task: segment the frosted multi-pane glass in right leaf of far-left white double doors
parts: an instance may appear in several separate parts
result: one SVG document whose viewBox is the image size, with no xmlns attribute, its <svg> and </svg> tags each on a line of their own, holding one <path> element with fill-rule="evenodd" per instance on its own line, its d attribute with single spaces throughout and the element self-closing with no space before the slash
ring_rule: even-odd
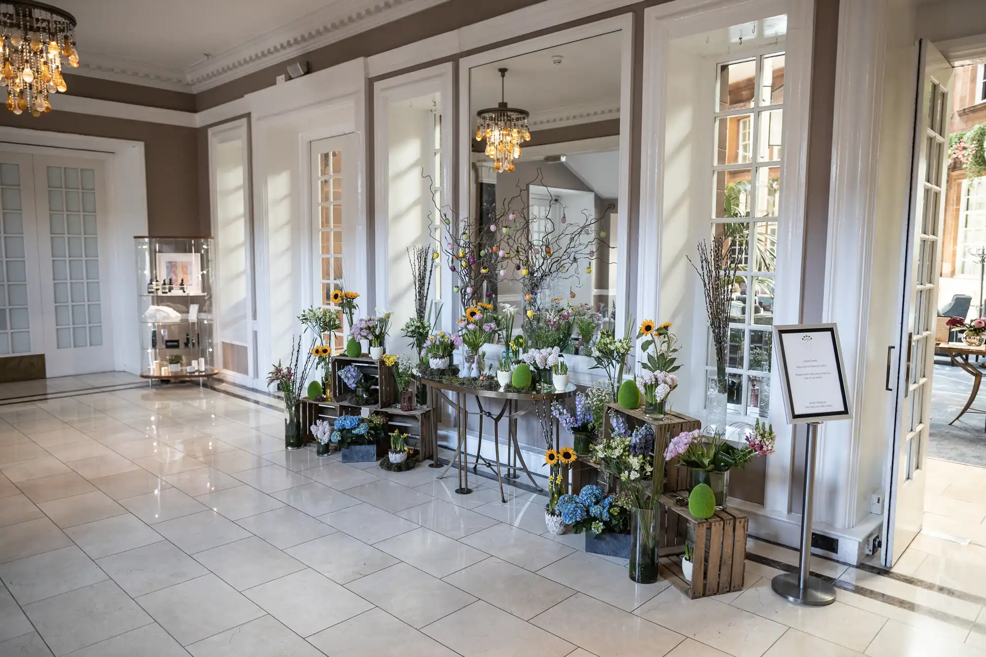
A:
<svg viewBox="0 0 986 657">
<path fill-rule="evenodd" d="M 100 346 L 103 314 L 96 172 L 47 167 L 47 178 L 55 341 L 59 349 Z"/>
</svg>

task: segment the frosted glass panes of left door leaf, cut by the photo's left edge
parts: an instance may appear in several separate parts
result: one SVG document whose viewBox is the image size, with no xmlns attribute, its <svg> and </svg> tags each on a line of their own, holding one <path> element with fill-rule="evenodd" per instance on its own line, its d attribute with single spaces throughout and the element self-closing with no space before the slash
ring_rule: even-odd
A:
<svg viewBox="0 0 986 657">
<path fill-rule="evenodd" d="M 0 164 L 0 354 L 31 351 L 21 169 Z"/>
</svg>

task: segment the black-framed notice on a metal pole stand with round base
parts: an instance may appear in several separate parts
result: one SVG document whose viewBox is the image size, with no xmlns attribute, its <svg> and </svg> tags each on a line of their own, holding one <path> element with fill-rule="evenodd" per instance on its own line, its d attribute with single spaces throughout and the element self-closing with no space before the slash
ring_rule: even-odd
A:
<svg viewBox="0 0 986 657">
<path fill-rule="evenodd" d="M 814 469 L 818 426 L 827 420 L 850 419 L 845 367 L 834 324 L 774 327 L 784 411 L 788 424 L 808 424 L 805 450 L 805 504 L 802 511 L 799 572 L 771 580 L 774 593 L 798 605 L 820 607 L 835 602 L 835 587 L 811 575 L 811 514 L 814 510 Z"/>
</svg>

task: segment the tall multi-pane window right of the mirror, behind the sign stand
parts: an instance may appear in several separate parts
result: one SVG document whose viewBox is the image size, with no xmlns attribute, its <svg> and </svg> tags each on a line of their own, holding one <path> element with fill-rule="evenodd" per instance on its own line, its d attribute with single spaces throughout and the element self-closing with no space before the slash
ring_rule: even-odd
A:
<svg viewBox="0 0 986 657">
<path fill-rule="evenodd" d="M 713 233 L 728 241 L 740 270 L 730 302 L 727 403 L 733 413 L 767 417 L 771 327 L 784 116 L 784 53 L 717 66 Z M 715 354 L 709 349 L 709 376 Z"/>
</svg>

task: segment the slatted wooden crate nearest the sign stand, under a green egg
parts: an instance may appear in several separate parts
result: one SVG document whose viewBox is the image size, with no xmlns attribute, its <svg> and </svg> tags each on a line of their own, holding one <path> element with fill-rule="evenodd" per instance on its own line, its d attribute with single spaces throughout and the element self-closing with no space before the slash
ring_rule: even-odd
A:
<svg viewBox="0 0 986 657">
<path fill-rule="evenodd" d="M 671 583 L 691 598 L 705 598 L 720 593 L 740 591 L 746 561 L 746 516 L 732 509 L 716 511 L 711 518 L 700 520 L 688 512 L 688 491 L 661 496 L 666 518 L 678 520 L 662 523 L 661 556 L 680 555 L 685 543 L 694 547 L 692 554 L 691 585 L 681 577 L 680 558 L 665 558 L 662 564 L 676 577 Z M 682 531 L 683 527 L 683 531 Z"/>
</svg>

